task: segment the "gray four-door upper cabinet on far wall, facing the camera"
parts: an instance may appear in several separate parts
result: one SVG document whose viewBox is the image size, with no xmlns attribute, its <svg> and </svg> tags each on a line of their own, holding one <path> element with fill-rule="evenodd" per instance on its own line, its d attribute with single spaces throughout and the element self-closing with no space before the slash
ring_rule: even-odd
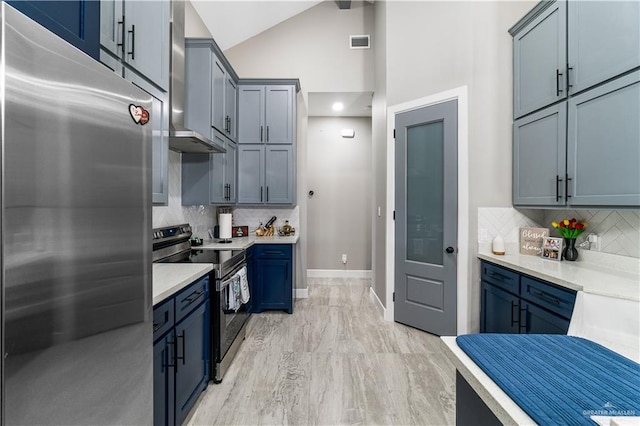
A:
<svg viewBox="0 0 640 426">
<path fill-rule="evenodd" d="M 298 81 L 266 82 L 239 84 L 238 204 L 293 205 Z"/>
</svg>

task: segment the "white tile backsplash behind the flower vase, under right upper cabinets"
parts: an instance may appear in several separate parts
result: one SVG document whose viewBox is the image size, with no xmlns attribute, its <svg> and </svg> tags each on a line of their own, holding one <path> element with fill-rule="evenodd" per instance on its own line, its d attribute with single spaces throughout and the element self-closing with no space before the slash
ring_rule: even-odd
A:
<svg viewBox="0 0 640 426">
<path fill-rule="evenodd" d="M 559 236 L 551 222 L 573 218 L 587 223 L 578 244 L 590 233 L 600 242 L 592 251 L 618 256 L 640 258 L 640 210 L 536 210 L 511 207 L 481 207 L 478 209 L 478 242 L 487 243 L 497 235 L 506 243 L 518 243 L 518 229 L 524 226 L 549 228 L 552 236 Z"/>
</svg>

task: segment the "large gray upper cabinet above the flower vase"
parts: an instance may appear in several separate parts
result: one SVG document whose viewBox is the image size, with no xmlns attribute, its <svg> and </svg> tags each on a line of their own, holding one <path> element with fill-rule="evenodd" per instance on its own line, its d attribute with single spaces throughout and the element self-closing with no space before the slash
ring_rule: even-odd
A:
<svg viewBox="0 0 640 426">
<path fill-rule="evenodd" d="M 639 26 L 639 2 L 550 1 L 510 30 L 515 206 L 640 207 Z"/>
</svg>

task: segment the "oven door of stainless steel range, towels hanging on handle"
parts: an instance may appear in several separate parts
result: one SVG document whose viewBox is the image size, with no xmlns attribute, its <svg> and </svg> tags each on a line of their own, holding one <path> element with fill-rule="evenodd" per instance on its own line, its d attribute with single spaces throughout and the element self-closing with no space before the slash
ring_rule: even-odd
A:
<svg viewBox="0 0 640 426">
<path fill-rule="evenodd" d="M 217 314 L 217 321 L 214 324 L 216 333 L 213 339 L 213 353 L 216 354 L 216 359 L 212 365 L 219 365 L 223 360 L 227 361 L 225 364 L 231 361 L 230 359 L 225 360 L 225 357 L 230 356 L 233 358 L 234 354 L 229 353 L 229 350 L 233 346 L 236 337 L 243 331 L 243 327 L 249 317 L 246 304 L 237 301 L 237 297 L 235 297 L 239 293 L 239 283 L 237 283 L 234 276 L 243 266 L 246 266 L 246 264 L 239 265 L 227 275 L 228 278 L 220 279 L 220 284 L 216 285 L 214 309 Z M 216 376 L 216 378 L 219 377 L 218 380 L 221 379 L 219 371 L 216 371 Z"/>
</svg>

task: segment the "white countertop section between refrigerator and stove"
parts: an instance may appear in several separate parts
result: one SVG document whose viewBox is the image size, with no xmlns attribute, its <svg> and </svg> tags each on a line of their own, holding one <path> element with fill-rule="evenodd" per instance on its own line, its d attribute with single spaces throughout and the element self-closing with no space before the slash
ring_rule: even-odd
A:
<svg viewBox="0 0 640 426">
<path fill-rule="evenodd" d="M 211 263 L 154 263 L 153 305 L 213 270 Z"/>
</svg>

